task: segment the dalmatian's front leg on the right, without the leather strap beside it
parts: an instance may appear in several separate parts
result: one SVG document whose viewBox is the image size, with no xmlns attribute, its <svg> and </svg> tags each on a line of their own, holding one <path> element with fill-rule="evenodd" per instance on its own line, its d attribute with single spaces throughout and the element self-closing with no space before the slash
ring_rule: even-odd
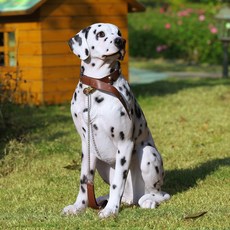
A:
<svg viewBox="0 0 230 230">
<path fill-rule="evenodd" d="M 106 207 L 99 213 L 99 217 L 106 218 L 116 215 L 119 211 L 121 198 L 125 188 L 125 182 L 129 171 L 133 142 L 120 142 L 116 153 L 115 172 L 110 184 L 109 201 Z"/>
</svg>

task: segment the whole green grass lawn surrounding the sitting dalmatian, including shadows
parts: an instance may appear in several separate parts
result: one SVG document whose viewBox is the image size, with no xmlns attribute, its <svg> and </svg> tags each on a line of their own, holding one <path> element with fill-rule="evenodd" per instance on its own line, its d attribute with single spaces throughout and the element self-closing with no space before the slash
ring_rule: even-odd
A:
<svg viewBox="0 0 230 230">
<path fill-rule="evenodd" d="M 105 220 L 91 209 L 62 216 L 77 194 L 81 157 L 69 105 L 4 106 L 0 229 L 230 229 L 230 81 L 170 78 L 133 90 L 164 158 L 171 200 L 154 210 L 122 206 Z M 99 176 L 95 187 L 96 195 L 108 191 Z"/>
</svg>

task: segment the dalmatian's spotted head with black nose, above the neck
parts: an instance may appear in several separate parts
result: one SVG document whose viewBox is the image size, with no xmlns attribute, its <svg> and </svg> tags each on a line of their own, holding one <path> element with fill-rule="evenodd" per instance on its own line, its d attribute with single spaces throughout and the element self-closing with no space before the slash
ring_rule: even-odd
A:
<svg viewBox="0 0 230 230">
<path fill-rule="evenodd" d="M 113 24 L 93 24 L 69 40 L 69 46 L 81 60 L 88 57 L 102 60 L 123 60 L 125 56 L 125 39 Z"/>
</svg>

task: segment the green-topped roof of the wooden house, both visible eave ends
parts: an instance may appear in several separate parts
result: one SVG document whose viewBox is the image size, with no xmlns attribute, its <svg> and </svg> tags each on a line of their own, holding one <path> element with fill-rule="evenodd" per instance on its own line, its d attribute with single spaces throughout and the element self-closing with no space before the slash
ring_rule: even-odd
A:
<svg viewBox="0 0 230 230">
<path fill-rule="evenodd" d="M 0 0 L 0 16 L 26 15 L 33 13 L 47 0 Z M 129 12 L 144 11 L 145 7 L 136 0 L 125 0 Z"/>
</svg>

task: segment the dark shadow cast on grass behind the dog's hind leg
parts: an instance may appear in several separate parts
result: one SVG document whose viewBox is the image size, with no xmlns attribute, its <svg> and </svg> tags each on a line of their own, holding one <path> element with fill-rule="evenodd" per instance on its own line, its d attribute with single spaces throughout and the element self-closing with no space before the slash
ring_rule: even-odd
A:
<svg viewBox="0 0 230 230">
<path fill-rule="evenodd" d="M 230 166 L 230 157 L 214 159 L 192 169 L 175 169 L 166 172 L 164 189 L 171 195 L 193 188 L 221 166 Z M 223 175 L 224 176 L 224 175 Z"/>
</svg>

